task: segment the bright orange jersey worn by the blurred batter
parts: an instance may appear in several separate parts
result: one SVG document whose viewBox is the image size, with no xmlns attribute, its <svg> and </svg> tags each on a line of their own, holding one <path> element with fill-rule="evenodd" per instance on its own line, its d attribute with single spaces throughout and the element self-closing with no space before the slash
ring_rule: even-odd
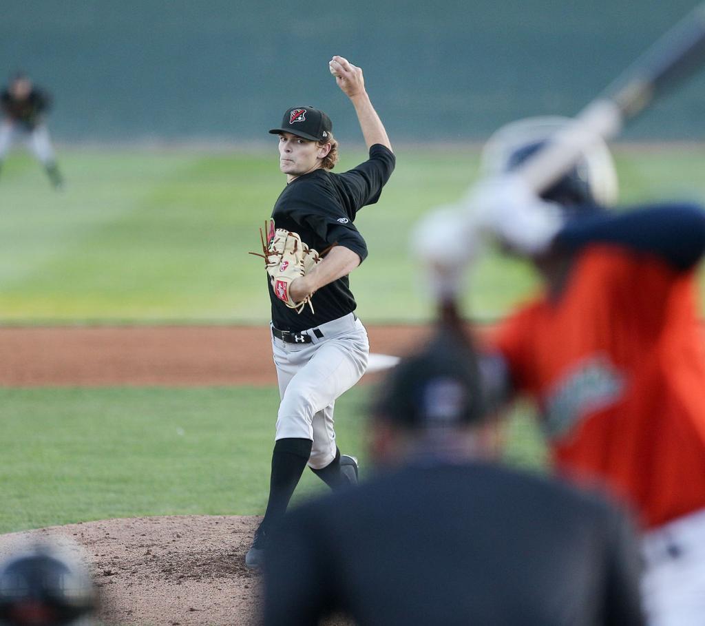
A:
<svg viewBox="0 0 705 626">
<path fill-rule="evenodd" d="M 496 336 L 517 391 L 538 400 L 556 465 L 605 481 L 649 527 L 705 508 L 694 272 L 616 243 L 588 245 L 568 271 L 561 293 Z"/>
</svg>

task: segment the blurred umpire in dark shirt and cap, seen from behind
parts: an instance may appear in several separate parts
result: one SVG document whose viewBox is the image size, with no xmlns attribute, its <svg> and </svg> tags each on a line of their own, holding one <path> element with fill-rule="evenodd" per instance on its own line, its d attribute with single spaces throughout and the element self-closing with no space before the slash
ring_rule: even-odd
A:
<svg viewBox="0 0 705 626">
<path fill-rule="evenodd" d="M 474 353 L 441 333 L 388 376 L 379 472 L 289 515 L 265 563 L 265 624 L 643 623 L 639 550 L 611 505 L 503 467 Z"/>
</svg>

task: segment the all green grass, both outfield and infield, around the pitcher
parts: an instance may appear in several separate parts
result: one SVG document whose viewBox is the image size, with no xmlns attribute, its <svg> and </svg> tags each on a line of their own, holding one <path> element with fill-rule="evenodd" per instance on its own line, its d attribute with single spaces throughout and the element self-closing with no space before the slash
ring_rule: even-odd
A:
<svg viewBox="0 0 705 626">
<path fill-rule="evenodd" d="M 357 224 L 370 256 L 353 276 L 366 322 L 423 321 L 429 302 L 407 255 L 423 211 L 474 178 L 471 149 L 398 149 L 382 202 Z M 266 323 L 259 224 L 283 186 L 276 154 L 64 149 L 51 190 L 22 154 L 0 179 L 0 324 Z M 344 155 L 345 156 L 345 155 Z M 362 153 L 349 154 L 341 169 Z M 705 197 L 701 150 L 618 152 L 623 201 Z M 496 319 L 534 288 L 496 255 L 469 279 L 466 310 Z M 266 349 L 266 346 L 263 347 Z M 364 463 L 369 387 L 336 405 L 338 436 Z M 0 532 L 79 520 L 255 514 L 266 503 L 277 393 L 255 388 L 0 389 Z M 511 462 L 541 467 L 527 410 Z M 307 473 L 298 497 L 320 489 Z"/>
</svg>

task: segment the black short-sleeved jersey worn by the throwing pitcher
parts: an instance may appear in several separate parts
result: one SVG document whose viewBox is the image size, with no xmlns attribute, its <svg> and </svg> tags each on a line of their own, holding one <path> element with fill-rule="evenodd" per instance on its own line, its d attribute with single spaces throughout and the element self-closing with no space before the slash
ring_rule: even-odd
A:
<svg viewBox="0 0 705 626">
<path fill-rule="evenodd" d="M 379 200 L 382 187 L 394 169 L 394 154 L 375 144 L 369 159 L 350 171 L 336 174 L 324 169 L 299 176 L 279 195 L 272 219 L 276 228 L 298 233 L 301 240 L 318 252 L 342 245 L 367 257 L 367 245 L 353 222 L 357 211 Z M 268 277 L 269 280 L 269 277 Z M 315 313 L 305 307 L 298 314 L 274 295 L 269 286 L 271 319 L 283 331 L 302 331 L 338 319 L 355 310 L 348 276 L 321 287 L 313 296 Z"/>
</svg>

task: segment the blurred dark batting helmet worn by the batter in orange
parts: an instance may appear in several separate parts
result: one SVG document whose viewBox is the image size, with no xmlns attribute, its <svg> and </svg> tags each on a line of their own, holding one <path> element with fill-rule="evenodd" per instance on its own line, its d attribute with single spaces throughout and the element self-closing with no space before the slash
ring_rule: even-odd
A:
<svg viewBox="0 0 705 626">
<path fill-rule="evenodd" d="M 536 117 L 497 130 L 482 150 L 482 169 L 489 176 L 507 173 L 537 152 L 553 135 L 574 123 L 570 118 Z M 586 131 L 587 132 L 587 131 Z M 580 158 L 563 178 L 544 191 L 544 200 L 564 206 L 606 206 L 617 198 L 617 175 L 606 143 L 593 135 Z"/>
</svg>

